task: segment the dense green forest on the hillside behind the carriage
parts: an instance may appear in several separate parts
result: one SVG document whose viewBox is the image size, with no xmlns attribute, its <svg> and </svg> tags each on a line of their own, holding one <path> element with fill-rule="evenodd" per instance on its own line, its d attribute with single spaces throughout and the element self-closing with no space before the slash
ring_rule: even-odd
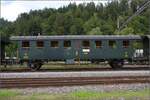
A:
<svg viewBox="0 0 150 100">
<path fill-rule="evenodd" d="M 136 16 L 117 32 L 129 16 L 146 0 L 114 0 L 105 6 L 75 3 L 58 9 L 45 8 L 22 13 L 14 22 L 0 19 L 0 34 L 10 35 L 80 35 L 80 34 L 149 34 L 150 9 Z M 119 23 L 119 24 L 118 24 Z"/>
</svg>

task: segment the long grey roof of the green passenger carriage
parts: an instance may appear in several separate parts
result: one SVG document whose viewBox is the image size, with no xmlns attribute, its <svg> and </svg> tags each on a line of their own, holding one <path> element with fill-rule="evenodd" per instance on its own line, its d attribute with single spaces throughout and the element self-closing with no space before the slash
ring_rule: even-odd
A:
<svg viewBox="0 0 150 100">
<path fill-rule="evenodd" d="M 54 35 L 54 36 L 12 36 L 10 40 L 66 40 L 66 39 L 129 39 L 140 40 L 140 35 Z"/>
</svg>

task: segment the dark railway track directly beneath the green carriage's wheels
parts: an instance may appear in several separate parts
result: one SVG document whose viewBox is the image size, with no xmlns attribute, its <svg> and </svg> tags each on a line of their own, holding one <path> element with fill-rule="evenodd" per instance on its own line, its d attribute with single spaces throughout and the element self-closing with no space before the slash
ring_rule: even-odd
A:
<svg viewBox="0 0 150 100">
<path fill-rule="evenodd" d="M 49 69 L 49 68 L 44 68 L 44 69 L 40 69 L 36 72 L 53 72 L 53 71 L 56 71 L 56 72 L 63 72 L 63 71 L 114 71 L 114 70 L 117 70 L 117 71 L 122 71 L 122 70 L 131 70 L 131 71 L 137 71 L 137 70 L 150 70 L 150 67 L 123 67 L 123 68 L 120 68 L 120 69 L 112 69 L 112 68 L 108 68 L 108 67 L 105 67 L 105 68 L 53 68 L 53 69 Z M 1 69 L 0 70 L 1 73 L 3 72 L 35 72 L 34 70 L 31 70 L 30 68 L 22 68 L 22 69 Z"/>
</svg>

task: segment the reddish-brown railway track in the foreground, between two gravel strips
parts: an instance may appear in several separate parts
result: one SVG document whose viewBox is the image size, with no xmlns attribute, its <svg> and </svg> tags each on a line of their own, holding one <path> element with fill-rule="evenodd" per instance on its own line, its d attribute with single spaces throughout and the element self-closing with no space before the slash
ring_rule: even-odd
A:
<svg viewBox="0 0 150 100">
<path fill-rule="evenodd" d="M 150 76 L 0 78 L 0 88 L 150 83 Z"/>
</svg>

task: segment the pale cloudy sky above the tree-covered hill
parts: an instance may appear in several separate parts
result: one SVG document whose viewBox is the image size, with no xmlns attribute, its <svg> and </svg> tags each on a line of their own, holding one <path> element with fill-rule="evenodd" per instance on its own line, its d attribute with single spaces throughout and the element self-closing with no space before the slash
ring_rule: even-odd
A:
<svg viewBox="0 0 150 100">
<path fill-rule="evenodd" d="M 0 17 L 8 21 L 15 21 L 19 14 L 29 12 L 30 10 L 39 10 L 44 8 L 59 8 L 67 6 L 70 3 L 88 3 L 94 2 L 107 3 L 111 0 L 1 0 Z"/>
</svg>

